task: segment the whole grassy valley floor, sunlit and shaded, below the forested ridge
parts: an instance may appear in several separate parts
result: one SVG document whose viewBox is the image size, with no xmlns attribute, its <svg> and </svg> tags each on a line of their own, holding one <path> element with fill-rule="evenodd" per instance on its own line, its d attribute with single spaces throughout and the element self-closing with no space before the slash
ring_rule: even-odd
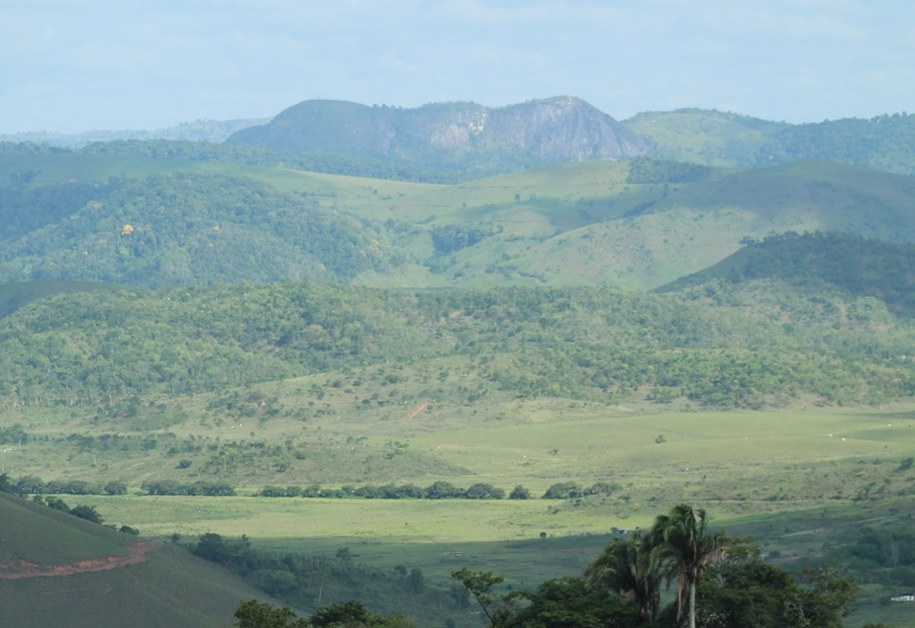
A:
<svg viewBox="0 0 915 628">
<path fill-rule="evenodd" d="M 106 523 L 133 526 L 144 536 L 179 534 L 192 542 L 205 532 L 246 534 L 262 549 L 327 557 L 346 547 L 358 562 L 420 568 L 442 584 L 463 566 L 503 573 L 517 586 L 577 574 L 613 528 L 648 526 L 682 501 L 706 508 L 716 526 L 752 535 L 764 556 L 786 565 L 847 542 L 865 521 L 909 525 L 915 470 L 903 463 L 915 454 L 911 405 L 658 412 L 648 404 L 499 395 L 462 402 L 455 391 L 476 385 L 467 379 L 470 369 L 459 360 L 423 368 L 428 373 L 400 382 L 401 402 L 371 409 L 362 398 L 387 388 L 371 384 L 381 376 L 369 370 L 341 375 L 339 385 L 331 385 L 338 375 L 325 374 L 252 387 L 242 391 L 259 408 L 251 416 L 227 409 L 220 401 L 225 395 L 169 400 L 165 411 L 135 417 L 134 431 L 116 418 L 73 409 L 7 409 L 0 427 L 18 423 L 38 438 L 0 446 L 0 472 L 125 481 L 127 495 L 63 497 L 71 506 L 96 506 Z M 353 389 L 357 377 L 366 383 Z M 438 401 L 414 414 L 429 399 L 431 382 L 441 387 Z M 325 394 L 309 405 L 314 383 Z M 283 411 L 260 420 L 271 407 Z M 307 420 L 297 418 L 304 409 Z M 204 446 L 184 453 L 189 443 Z M 235 452 L 231 462 L 227 452 Z M 185 457 L 191 464 L 179 468 Z M 280 458 L 288 462 L 282 470 Z M 239 496 L 140 494 L 140 484 L 151 478 L 224 479 Z M 438 480 L 458 487 L 488 482 L 507 492 L 523 485 L 533 499 L 253 496 L 267 484 L 426 486 Z M 557 482 L 583 488 L 604 482 L 611 490 L 540 499 Z M 891 594 L 898 592 L 866 590 L 860 617 L 889 621 L 881 600 Z"/>
</svg>

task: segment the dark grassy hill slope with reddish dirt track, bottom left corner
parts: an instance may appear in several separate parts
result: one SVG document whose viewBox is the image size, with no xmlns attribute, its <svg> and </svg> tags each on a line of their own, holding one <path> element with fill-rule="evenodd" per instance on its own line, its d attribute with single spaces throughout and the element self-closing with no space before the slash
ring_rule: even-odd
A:
<svg viewBox="0 0 915 628">
<path fill-rule="evenodd" d="M 0 625 L 227 626 L 263 594 L 174 545 L 0 493 Z"/>
</svg>

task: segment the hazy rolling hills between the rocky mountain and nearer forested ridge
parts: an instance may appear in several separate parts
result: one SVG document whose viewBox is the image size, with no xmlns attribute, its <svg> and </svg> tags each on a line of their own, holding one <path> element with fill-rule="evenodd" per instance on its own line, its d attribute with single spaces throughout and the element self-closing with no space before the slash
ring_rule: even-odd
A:
<svg viewBox="0 0 915 628">
<path fill-rule="evenodd" d="M 915 179 L 825 161 L 592 160 L 446 185 L 20 145 L 3 180 L 7 282 L 651 289 L 785 232 L 915 239 Z"/>
</svg>

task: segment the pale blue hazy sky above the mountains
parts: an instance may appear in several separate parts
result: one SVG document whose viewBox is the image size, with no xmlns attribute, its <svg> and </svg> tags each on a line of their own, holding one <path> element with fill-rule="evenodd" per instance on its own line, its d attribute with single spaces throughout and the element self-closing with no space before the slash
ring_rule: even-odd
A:
<svg viewBox="0 0 915 628">
<path fill-rule="evenodd" d="M 0 0 L 0 133 L 556 95 L 620 120 L 915 110 L 915 2 Z"/>
</svg>

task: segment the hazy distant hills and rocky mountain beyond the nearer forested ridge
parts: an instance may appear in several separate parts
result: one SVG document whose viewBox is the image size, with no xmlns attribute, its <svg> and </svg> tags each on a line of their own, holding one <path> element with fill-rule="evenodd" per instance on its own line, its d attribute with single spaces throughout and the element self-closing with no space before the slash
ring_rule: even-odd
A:
<svg viewBox="0 0 915 628">
<path fill-rule="evenodd" d="M 0 280 L 647 289 L 785 232 L 912 241 L 910 137 L 908 115 L 619 123 L 556 97 L 306 101 L 222 144 L 4 144 Z"/>
</svg>

